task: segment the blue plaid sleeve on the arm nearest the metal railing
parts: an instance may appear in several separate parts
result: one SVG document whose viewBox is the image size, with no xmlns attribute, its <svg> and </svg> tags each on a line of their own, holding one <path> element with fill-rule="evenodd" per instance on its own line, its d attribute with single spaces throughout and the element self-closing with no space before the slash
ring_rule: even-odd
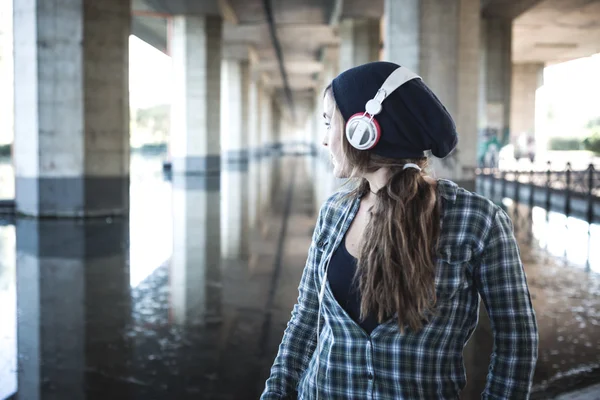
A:
<svg viewBox="0 0 600 400">
<path fill-rule="evenodd" d="M 494 216 L 475 282 L 494 334 L 482 399 L 528 399 L 538 329 L 512 221 L 502 209 Z"/>
</svg>

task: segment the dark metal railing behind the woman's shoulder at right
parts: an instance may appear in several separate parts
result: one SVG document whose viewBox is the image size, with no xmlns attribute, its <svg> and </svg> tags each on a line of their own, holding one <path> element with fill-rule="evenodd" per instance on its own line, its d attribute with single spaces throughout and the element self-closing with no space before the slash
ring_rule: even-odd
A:
<svg viewBox="0 0 600 400">
<path fill-rule="evenodd" d="M 574 171 L 571 164 L 563 171 L 477 170 L 477 191 L 492 200 L 511 198 L 518 204 L 543 207 L 589 223 L 600 216 L 600 171 L 590 164 Z"/>
</svg>

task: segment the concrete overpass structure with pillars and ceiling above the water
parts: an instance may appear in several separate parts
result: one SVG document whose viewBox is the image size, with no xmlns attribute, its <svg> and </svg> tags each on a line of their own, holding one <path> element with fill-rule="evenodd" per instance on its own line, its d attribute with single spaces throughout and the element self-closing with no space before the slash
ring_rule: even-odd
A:
<svg viewBox="0 0 600 400">
<path fill-rule="evenodd" d="M 598 2 L 72 3 L 14 6 L 16 207 L 25 215 L 129 212 L 131 33 L 172 57 L 174 175 L 215 190 L 221 170 L 260 170 L 299 143 L 315 156 L 316 204 L 338 184 L 326 178 L 321 115 L 322 90 L 340 71 L 384 59 L 419 73 L 459 131 L 457 150 L 432 159 L 430 172 L 474 189 L 490 144 L 534 135 L 544 65 L 600 51 Z M 269 174 L 255 175 L 251 223 L 272 187 Z"/>
</svg>

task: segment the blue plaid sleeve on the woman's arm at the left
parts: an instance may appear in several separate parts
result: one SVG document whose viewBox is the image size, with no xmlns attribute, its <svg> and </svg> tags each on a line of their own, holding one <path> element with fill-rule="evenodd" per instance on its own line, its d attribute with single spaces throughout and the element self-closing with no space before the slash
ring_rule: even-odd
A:
<svg viewBox="0 0 600 400">
<path fill-rule="evenodd" d="M 315 280 L 315 259 L 318 251 L 319 227 L 322 223 L 321 215 L 322 210 L 298 287 L 298 301 L 294 305 L 291 318 L 283 333 L 279 351 L 271 367 L 271 374 L 260 397 L 261 400 L 295 397 L 293 394 L 296 391 L 298 380 L 306 370 L 316 347 L 319 300 Z"/>
</svg>

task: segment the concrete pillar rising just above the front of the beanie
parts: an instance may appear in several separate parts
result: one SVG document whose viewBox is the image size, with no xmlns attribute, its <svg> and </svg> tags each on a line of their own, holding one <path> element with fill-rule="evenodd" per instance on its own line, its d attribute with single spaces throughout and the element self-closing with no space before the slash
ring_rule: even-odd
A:
<svg viewBox="0 0 600 400">
<path fill-rule="evenodd" d="M 340 23 L 340 71 L 379 60 L 380 20 L 345 19 Z"/>
</svg>

